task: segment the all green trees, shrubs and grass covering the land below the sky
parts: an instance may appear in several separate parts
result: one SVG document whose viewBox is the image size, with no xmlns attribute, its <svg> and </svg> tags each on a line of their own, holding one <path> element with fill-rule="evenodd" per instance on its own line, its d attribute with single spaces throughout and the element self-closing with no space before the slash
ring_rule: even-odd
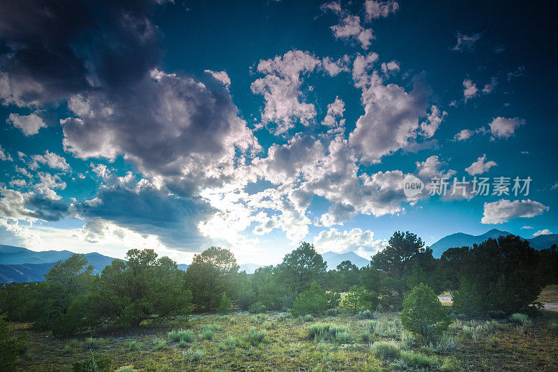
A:
<svg viewBox="0 0 558 372">
<path fill-rule="evenodd" d="M 538 296 L 557 269 L 556 246 L 513 235 L 437 260 L 395 232 L 368 267 L 329 271 L 303 242 L 250 276 L 218 247 L 186 272 L 133 249 L 93 275 L 73 255 L 0 290 L 0 370 L 552 369 L 558 322 Z"/>
</svg>

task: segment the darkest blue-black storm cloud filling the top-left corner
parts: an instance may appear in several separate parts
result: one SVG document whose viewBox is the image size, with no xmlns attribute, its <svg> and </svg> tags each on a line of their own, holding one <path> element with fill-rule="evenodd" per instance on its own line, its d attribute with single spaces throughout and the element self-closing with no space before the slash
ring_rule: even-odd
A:
<svg viewBox="0 0 558 372">
<path fill-rule="evenodd" d="M 0 98 L 41 105 L 141 79 L 160 57 L 151 1 L 1 1 Z"/>
</svg>

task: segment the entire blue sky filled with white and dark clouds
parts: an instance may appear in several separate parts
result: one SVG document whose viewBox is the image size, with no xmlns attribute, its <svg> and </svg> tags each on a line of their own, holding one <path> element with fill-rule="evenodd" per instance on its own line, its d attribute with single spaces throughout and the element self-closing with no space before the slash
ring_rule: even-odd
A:
<svg viewBox="0 0 558 372">
<path fill-rule="evenodd" d="M 556 10 L 3 1 L 0 244 L 269 265 L 557 233 Z"/>
</svg>

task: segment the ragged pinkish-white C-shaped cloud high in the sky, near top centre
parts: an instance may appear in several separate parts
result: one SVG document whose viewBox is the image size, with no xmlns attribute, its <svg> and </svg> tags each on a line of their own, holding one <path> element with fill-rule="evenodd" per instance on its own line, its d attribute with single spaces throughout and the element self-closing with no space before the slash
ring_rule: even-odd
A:
<svg viewBox="0 0 558 372">
<path fill-rule="evenodd" d="M 265 100 L 262 121 L 264 125 L 276 124 L 274 134 L 280 135 L 294 127 L 296 121 L 308 126 L 316 116 L 316 108 L 311 103 L 301 101 L 301 75 L 319 66 L 319 59 L 308 52 L 291 50 L 283 56 L 259 61 L 257 70 L 266 74 L 255 82 L 251 89 L 262 94 Z"/>
</svg>

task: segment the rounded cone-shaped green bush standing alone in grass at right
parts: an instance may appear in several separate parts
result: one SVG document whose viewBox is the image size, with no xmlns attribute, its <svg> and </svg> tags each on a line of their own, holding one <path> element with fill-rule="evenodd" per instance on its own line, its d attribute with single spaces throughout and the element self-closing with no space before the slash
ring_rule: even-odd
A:
<svg viewBox="0 0 558 372">
<path fill-rule="evenodd" d="M 451 319 L 432 289 L 421 283 L 403 301 L 401 323 L 405 329 L 427 340 L 442 335 Z"/>
</svg>

